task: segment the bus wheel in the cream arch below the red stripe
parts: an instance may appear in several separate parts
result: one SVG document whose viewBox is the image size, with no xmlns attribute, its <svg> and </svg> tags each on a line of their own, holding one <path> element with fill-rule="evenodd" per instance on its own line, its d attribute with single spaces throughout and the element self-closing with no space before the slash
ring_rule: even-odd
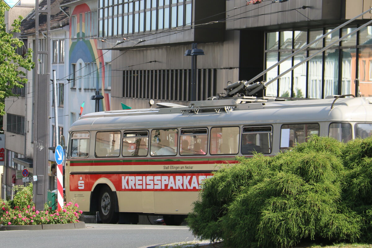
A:
<svg viewBox="0 0 372 248">
<path fill-rule="evenodd" d="M 98 198 L 99 216 L 105 224 L 118 223 L 119 213 L 115 212 L 114 193 L 105 185 L 101 188 Z"/>
</svg>

